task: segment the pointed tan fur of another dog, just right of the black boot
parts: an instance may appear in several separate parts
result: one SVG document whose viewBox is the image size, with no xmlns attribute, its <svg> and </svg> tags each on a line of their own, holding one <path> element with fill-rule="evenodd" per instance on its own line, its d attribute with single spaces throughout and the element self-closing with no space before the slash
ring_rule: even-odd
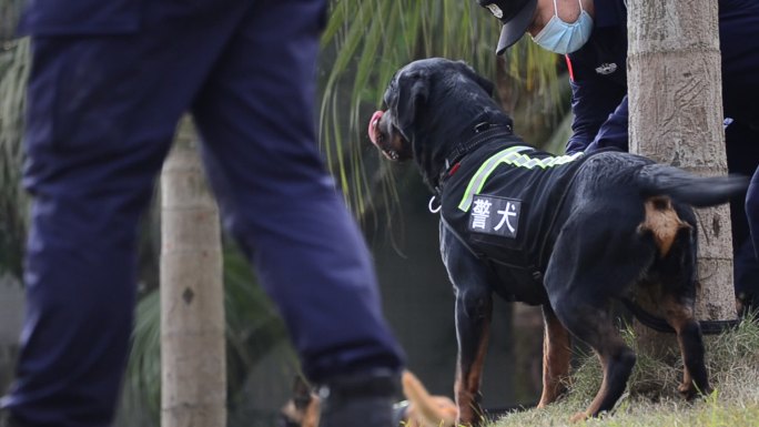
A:
<svg viewBox="0 0 759 427">
<path fill-rule="evenodd" d="M 453 427 L 458 409 L 453 400 L 443 396 L 431 396 L 422 382 L 408 370 L 403 373 L 403 394 L 409 403 L 409 425 L 419 427 Z M 413 411 L 413 414 L 411 414 Z"/>
</svg>

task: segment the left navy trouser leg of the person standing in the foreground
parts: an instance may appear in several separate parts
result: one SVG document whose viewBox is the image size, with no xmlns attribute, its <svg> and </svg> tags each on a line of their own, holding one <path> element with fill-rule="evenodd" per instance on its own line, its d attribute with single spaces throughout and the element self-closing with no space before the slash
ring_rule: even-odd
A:
<svg viewBox="0 0 759 427">
<path fill-rule="evenodd" d="M 23 425 L 110 424 L 132 326 L 138 221 L 178 119 L 242 9 L 204 33 L 175 6 L 149 4 L 162 12 L 140 33 L 32 41 L 28 297 L 2 401 Z"/>
</svg>

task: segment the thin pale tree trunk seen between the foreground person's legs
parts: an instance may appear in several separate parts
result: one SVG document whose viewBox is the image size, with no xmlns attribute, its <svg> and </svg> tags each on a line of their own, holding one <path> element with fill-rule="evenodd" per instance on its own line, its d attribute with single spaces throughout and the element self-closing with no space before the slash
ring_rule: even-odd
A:
<svg viewBox="0 0 759 427">
<path fill-rule="evenodd" d="M 161 176 L 161 425 L 226 426 L 219 210 L 189 119 Z"/>
</svg>

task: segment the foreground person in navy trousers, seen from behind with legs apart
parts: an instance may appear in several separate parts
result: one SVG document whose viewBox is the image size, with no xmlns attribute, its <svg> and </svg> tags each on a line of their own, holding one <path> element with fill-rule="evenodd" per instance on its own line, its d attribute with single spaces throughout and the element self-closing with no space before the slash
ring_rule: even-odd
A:
<svg viewBox="0 0 759 427">
<path fill-rule="evenodd" d="M 138 220 L 184 112 L 224 225 L 257 267 L 305 374 L 328 390 L 322 425 L 392 425 L 402 349 L 315 143 L 325 19 L 326 0 L 29 2 L 28 307 L 1 405 L 13 425 L 112 421 Z"/>
</svg>

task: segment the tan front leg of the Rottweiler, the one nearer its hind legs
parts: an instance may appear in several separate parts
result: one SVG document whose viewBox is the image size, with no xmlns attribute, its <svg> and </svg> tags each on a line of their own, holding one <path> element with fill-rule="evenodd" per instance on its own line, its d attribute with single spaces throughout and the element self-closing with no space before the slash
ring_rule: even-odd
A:
<svg viewBox="0 0 759 427">
<path fill-rule="evenodd" d="M 547 305 L 543 306 L 543 394 L 538 408 L 544 408 L 561 395 L 571 358 L 569 332 Z"/>
</svg>

